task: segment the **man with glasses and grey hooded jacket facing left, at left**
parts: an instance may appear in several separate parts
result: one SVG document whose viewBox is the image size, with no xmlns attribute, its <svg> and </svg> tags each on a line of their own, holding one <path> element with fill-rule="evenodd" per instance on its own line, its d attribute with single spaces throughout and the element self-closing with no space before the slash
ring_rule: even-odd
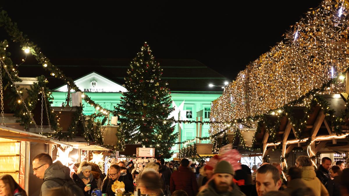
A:
<svg viewBox="0 0 349 196">
<path fill-rule="evenodd" d="M 70 169 L 61 164 L 60 161 L 52 163 L 52 158 L 49 154 L 40 153 L 33 158 L 34 175 L 39 179 L 44 180 L 41 190 L 41 195 L 48 195 L 48 191 L 54 187 L 61 187 L 62 184 L 57 181 L 68 181 L 70 178 Z"/>
</svg>

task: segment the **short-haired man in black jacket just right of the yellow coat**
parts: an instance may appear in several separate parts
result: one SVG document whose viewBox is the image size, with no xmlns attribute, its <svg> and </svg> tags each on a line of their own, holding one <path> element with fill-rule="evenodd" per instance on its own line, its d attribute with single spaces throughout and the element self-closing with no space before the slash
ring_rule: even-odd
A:
<svg viewBox="0 0 349 196">
<path fill-rule="evenodd" d="M 331 168 L 332 160 L 328 157 L 321 159 L 321 165 L 316 171 L 316 177 L 321 181 L 326 187 L 329 196 L 333 196 L 333 182 L 331 176 L 329 175 L 329 169 Z"/>
</svg>

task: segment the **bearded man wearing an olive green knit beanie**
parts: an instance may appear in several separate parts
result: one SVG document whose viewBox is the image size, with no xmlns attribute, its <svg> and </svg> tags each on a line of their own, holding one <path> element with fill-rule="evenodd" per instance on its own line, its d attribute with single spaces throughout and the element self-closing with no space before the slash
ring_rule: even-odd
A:
<svg viewBox="0 0 349 196">
<path fill-rule="evenodd" d="M 234 170 L 227 161 L 220 161 L 215 169 L 213 179 L 198 196 L 245 196 L 233 182 Z"/>
</svg>

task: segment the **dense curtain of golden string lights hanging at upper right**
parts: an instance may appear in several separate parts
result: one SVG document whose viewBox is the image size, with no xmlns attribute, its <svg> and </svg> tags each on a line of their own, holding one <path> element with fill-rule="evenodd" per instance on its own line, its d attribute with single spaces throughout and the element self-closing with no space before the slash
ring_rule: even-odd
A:
<svg viewBox="0 0 349 196">
<path fill-rule="evenodd" d="M 345 83 L 341 82 L 345 76 L 341 73 L 349 65 L 348 8 L 343 1 L 325 0 L 307 12 L 280 43 L 248 64 L 224 88 L 222 96 L 213 101 L 210 121 L 230 122 L 269 114 L 333 78 L 340 81 L 318 93 L 345 91 Z M 307 97 L 297 106 L 307 105 L 310 100 Z M 251 122 L 251 126 L 257 122 Z M 222 128 L 220 123 L 210 124 L 210 134 Z"/>
</svg>

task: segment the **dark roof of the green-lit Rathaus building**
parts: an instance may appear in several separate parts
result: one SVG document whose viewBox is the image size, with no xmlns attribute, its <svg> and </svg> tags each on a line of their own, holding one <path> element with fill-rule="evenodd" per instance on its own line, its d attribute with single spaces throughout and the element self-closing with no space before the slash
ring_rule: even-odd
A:
<svg viewBox="0 0 349 196">
<path fill-rule="evenodd" d="M 93 71 L 124 84 L 124 77 L 129 68 L 131 59 L 51 59 L 53 65 L 61 69 L 64 74 L 73 80 L 87 75 Z M 173 60 L 156 59 L 163 69 L 162 79 L 169 83 L 171 91 L 203 91 L 222 92 L 221 87 L 209 87 L 208 84 L 224 85 L 227 78 L 207 67 L 198 60 Z M 14 62 L 20 62 L 14 59 Z M 55 78 L 46 71 L 42 65 L 29 57 L 18 67 L 20 77 L 36 77 L 45 75 L 50 89 L 64 85 L 60 79 Z"/>
</svg>

